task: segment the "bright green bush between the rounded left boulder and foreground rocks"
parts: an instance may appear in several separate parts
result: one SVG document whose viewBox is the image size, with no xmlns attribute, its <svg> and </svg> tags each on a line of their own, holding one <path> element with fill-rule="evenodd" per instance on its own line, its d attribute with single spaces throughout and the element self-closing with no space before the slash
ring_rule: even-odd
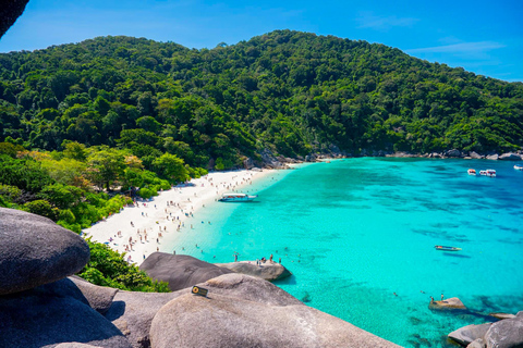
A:
<svg viewBox="0 0 523 348">
<path fill-rule="evenodd" d="M 169 285 L 153 281 L 136 265 L 127 264 L 124 254 L 87 239 L 90 260 L 80 273 L 84 279 L 101 286 L 130 291 L 169 293 Z"/>
</svg>

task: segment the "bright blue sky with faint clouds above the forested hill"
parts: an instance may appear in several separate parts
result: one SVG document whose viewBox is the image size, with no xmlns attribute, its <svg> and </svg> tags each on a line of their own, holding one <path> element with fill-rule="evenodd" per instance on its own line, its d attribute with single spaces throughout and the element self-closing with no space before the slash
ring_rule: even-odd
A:
<svg viewBox="0 0 523 348">
<path fill-rule="evenodd" d="M 107 35 L 214 48 L 275 29 L 396 47 L 476 74 L 523 82 L 523 0 L 29 0 L 0 52 Z"/>
</svg>

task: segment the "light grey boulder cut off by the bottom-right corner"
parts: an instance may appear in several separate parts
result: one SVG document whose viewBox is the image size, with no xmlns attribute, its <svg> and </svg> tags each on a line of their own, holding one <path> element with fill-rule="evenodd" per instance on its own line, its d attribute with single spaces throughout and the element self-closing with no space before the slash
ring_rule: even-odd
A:
<svg viewBox="0 0 523 348">
<path fill-rule="evenodd" d="M 515 318 L 494 323 L 485 334 L 487 348 L 523 347 L 523 312 Z"/>
</svg>

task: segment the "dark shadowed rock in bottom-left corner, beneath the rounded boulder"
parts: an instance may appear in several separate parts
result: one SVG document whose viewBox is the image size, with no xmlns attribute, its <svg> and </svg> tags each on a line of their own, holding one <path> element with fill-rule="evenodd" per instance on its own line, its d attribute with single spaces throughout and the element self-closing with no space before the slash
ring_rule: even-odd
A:
<svg viewBox="0 0 523 348">
<path fill-rule="evenodd" d="M 0 347 L 56 347 L 76 341 L 131 348 L 110 321 L 76 299 L 75 294 L 68 297 L 65 287 L 63 284 L 44 285 L 0 296 Z"/>
</svg>

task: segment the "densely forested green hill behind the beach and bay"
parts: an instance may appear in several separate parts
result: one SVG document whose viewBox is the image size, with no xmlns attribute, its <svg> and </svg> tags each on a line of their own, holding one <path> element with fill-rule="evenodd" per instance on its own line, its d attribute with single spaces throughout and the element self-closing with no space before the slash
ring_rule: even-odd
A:
<svg viewBox="0 0 523 348">
<path fill-rule="evenodd" d="M 523 146 L 523 84 L 290 30 L 211 50 L 100 37 L 0 54 L 4 140 L 127 148 L 146 169 L 166 152 L 223 169 L 263 148 L 507 151 Z"/>
</svg>

